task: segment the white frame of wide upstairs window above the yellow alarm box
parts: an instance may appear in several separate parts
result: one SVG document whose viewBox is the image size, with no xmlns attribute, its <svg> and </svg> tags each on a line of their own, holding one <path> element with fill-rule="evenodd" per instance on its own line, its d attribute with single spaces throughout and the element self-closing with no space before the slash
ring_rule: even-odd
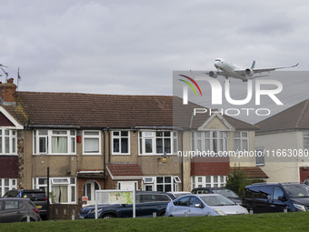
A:
<svg viewBox="0 0 309 232">
<path fill-rule="evenodd" d="M 162 132 L 163 136 L 156 136 L 157 132 Z M 169 132 L 170 136 L 164 136 L 164 132 Z M 138 133 L 139 139 L 139 149 L 138 153 L 140 156 L 163 156 L 164 155 L 164 139 L 169 138 L 170 139 L 170 152 L 166 152 L 166 155 L 174 155 L 177 152 L 177 147 L 178 143 L 175 142 L 174 140 L 177 140 L 177 132 L 173 130 L 155 130 L 155 131 L 140 131 Z M 162 138 L 163 140 L 163 151 L 160 153 L 156 152 L 156 139 L 157 138 Z M 152 141 L 152 152 L 145 152 L 146 147 L 145 147 L 145 140 L 150 140 Z"/>
</svg>

